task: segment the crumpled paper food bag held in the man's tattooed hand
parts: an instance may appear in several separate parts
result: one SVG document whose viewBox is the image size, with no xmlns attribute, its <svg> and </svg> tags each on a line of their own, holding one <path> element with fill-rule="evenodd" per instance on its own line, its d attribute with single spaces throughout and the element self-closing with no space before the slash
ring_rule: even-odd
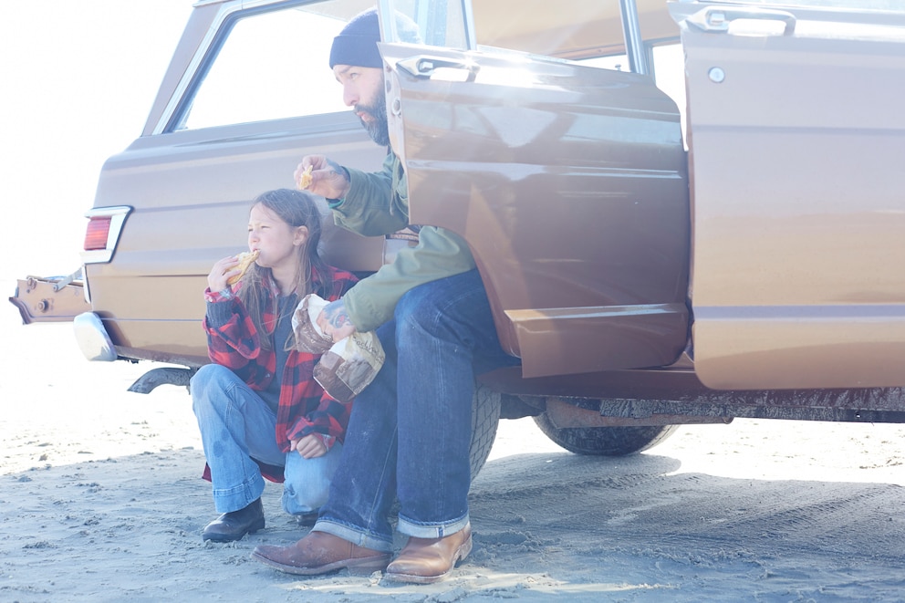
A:
<svg viewBox="0 0 905 603">
<path fill-rule="evenodd" d="M 329 302 L 315 294 L 302 298 L 292 315 L 292 328 L 299 351 L 321 354 L 314 379 L 328 394 L 348 402 L 377 376 L 386 355 L 373 331 L 353 333 L 333 343 L 317 326 L 317 317 Z"/>
</svg>

